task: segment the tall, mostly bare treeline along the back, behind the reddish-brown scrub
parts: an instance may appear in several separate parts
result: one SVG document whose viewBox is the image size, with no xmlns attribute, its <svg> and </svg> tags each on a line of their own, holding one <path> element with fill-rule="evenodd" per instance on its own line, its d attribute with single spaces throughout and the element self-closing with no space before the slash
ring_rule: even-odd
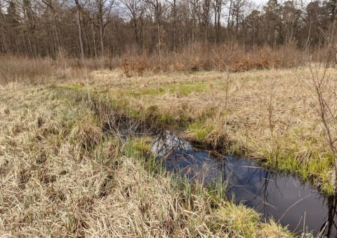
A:
<svg viewBox="0 0 337 238">
<path fill-rule="evenodd" d="M 161 57 L 199 44 L 321 48 L 337 1 L 0 0 L 0 52 L 31 57 Z"/>
</svg>

